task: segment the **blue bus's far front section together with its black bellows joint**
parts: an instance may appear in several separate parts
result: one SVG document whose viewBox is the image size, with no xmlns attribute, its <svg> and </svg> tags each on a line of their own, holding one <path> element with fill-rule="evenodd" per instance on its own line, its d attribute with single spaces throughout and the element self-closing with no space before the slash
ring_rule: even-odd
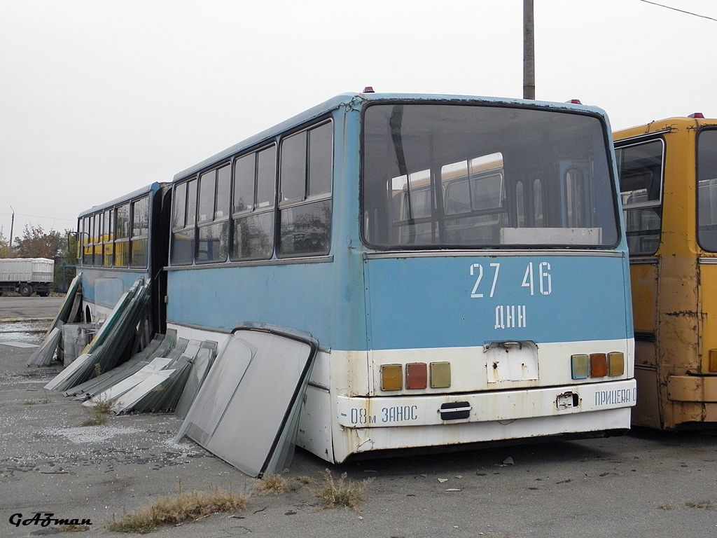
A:
<svg viewBox="0 0 717 538">
<path fill-rule="evenodd" d="M 153 183 L 77 217 L 77 272 L 82 273 L 82 318 L 87 323 L 102 321 L 123 293 L 144 278 L 151 283 L 149 329 L 152 334 L 166 330 L 168 195 L 166 184 Z"/>
</svg>

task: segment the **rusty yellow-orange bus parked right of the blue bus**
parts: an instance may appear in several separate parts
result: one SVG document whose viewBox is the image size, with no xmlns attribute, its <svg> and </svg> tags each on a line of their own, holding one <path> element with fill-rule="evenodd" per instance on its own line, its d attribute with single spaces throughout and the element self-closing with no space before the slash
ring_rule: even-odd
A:
<svg viewBox="0 0 717 538">
<path fill-rule="evenodd" d="M 717 120 L 614 133 L 635 325 L 634 425 L 717 426 Z"/>
</svg>

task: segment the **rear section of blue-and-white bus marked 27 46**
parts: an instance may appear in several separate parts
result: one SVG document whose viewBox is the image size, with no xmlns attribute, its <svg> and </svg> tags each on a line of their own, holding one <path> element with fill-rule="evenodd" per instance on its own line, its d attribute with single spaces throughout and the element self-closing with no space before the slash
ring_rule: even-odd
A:
<svg viewBox="0 0 717 538">
<path fill-rule="evenodd" d="M 624 433 L 617 188 L 597 108 L 339 95 L 176 174 L 166 324 L 312 334 L 297 444 L 330 462 Z"/>
</svg>

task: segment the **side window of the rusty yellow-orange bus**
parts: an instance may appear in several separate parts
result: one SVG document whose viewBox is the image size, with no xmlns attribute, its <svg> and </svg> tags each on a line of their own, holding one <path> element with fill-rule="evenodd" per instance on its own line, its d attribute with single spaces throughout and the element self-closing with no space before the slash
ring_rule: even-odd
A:
<svg viewBox="0 0 717 538">
<path fill-rule="evenodd" d="M 660 138 L 615 150 L 631 255 L 651 255 L 660 246 L 665 143 Z"/>
</svg>

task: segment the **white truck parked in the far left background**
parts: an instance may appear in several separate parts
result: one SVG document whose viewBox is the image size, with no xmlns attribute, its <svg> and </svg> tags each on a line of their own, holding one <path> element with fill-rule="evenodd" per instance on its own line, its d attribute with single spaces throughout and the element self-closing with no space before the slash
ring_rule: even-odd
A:
<svg viewBox="0 0 717 538">
<path fill-rule="evenodd" d="M 54 280 L 54 260 L 47 258 L 1 258 L 0 295 L 14 291 L 23 297 L 49 295 Z"/>
</svg>

